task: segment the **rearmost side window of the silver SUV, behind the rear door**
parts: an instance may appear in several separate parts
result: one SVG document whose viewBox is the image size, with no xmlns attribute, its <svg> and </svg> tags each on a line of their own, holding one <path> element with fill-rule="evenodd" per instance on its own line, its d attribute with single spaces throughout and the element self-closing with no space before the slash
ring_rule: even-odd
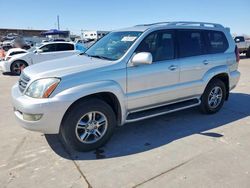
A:
<svg viewBox="0 0 250 188">
<path fill-rule="evenodd" d="M 208 52 L 210 54 L 223 53 L 228 48 L 228 42 L 224 33 L 220 31 L 207 31 Z"/>
</svg>

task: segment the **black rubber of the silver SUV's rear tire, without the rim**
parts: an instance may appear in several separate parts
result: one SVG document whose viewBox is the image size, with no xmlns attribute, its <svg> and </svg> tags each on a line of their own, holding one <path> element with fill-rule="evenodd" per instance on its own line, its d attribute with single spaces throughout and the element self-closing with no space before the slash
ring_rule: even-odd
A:
<svg viewBox="0 0 250 188">
<path fill-rule="evenodd" d="M 212 89 L 216 86 L 220 87 L 222 90 L 222 99 L 221 99 L 220 104 L 216 108 L 210 108 L 209 104 L 208 104 L 208 97 L 209 97 L 209 94 L 212 91 Z M 200 105 L 201 111 L 203 113 L 207 113 L 207 114 L 216 113 L 222 108 L 225 99 L 226 99 L 226 86 L 225 86 L 224 82 L 222 82 L 221 80 L 218 80 L 218 79 L 212 80 L 208 84 L 208 86 L 206 87 L 205 92 L 203 93 L 203 95 L 201 97 L 201 105 Z"/>
</svg>

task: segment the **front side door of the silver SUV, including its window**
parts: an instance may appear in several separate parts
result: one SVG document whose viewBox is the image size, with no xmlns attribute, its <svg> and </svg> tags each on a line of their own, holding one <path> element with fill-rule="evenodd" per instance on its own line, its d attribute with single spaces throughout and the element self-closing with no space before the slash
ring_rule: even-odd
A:
<svg viewBox="0 0 250 188">
<path fill-rule="evenodd" d="M 149 34 L 135 53 L 150 52 L 150 65 L 127 66 L 127 107 L 134 111 L 152 107 L 176 98 L 175 86 L 179 83 L 179 63 L 175 59 L 175 32 L 157 31 Z"/>
</svg>

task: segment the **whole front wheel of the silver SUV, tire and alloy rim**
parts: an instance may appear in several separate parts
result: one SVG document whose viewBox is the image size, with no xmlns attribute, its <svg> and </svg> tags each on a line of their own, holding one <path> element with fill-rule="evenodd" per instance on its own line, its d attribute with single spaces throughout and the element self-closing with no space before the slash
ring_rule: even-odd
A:
<svg viewBox="0 0 250 188">
<path fill-rule="evenodd" d="M 86 152 L 106 144 L 115 128 L 116 116 L 112 108 L 106 102 L 93 98 L 81 101 L 67 112 L 59 134 L 67 146 Z"/>
</svg>

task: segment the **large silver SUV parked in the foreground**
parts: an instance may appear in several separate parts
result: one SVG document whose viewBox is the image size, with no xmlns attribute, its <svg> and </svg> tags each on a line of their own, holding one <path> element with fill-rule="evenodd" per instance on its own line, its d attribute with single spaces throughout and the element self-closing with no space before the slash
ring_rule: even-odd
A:
<svg viewBox="0 0 250 188">
<path fill-rule="evenodd" d="M 218 112 L 240 77 L 219 24 L 170 22 L 113 31 L 85 53 L 23 70 L 12 88 L 20 124 L 70 147 L 103 146 L 116 126 L 199 106 Z"/>
</svg>

